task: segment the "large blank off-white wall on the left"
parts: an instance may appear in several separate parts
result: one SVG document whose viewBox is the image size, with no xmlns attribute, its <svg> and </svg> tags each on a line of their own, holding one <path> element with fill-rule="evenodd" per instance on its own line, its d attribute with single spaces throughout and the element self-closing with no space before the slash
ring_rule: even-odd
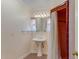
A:
<svg viewBox="0 0 79 59">
<path fill-rule="evenodd" d="M 30 51 L 31 32 L 21 32 L 26 23 L 30 24 L 30 8 L 17 0 L 1 3 L 1 59 L 19 59 Z"/>
</svg>

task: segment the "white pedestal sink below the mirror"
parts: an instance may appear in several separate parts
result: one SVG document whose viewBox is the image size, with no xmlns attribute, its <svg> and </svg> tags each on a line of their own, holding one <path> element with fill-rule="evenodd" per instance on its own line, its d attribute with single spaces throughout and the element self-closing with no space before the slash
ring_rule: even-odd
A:
<svg viewBox="0 0 79 59">
<path fill-rule="evenodd" d="M 42 56 L 42 43 L 46 41 L 43 38 L 34 38 L 33 41 L 38 45 L 37 56 Z"/>
</svg>

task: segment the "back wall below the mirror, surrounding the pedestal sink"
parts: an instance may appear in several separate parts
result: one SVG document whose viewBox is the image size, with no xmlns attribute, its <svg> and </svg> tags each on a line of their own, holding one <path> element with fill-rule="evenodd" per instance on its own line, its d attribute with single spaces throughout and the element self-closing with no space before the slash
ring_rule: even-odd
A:
<svg viewBox="0 0 79 59">
<path fill-rule="evenodd" d="M 40 33 L 42 33 L 41 35 L 39 35 Z M 43 45 L 43 54 L 48 54 L 48 40 L 49 40 L 49 32 L 33 32 L 33 38 L 37 38 L 38 36 L 42 36 L 45 37 L 46 41 L 44 42 Z M 38 46 L 35 44 L 35 42 L 32 41 L 32 47 L 31 47 L 31 52 L 32 53 L 37 53 L 37 49 Z"/>
</svg>

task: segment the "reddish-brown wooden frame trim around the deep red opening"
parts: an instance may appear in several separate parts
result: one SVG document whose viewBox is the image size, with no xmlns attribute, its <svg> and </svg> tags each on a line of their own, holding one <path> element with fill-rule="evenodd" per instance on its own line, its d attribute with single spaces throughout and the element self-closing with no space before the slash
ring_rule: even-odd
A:
<svg viewBox="0 0 79 59">
<path fill-rule="evenodd" d="M 62 10 L 64 8 L 66 8 L 66 10 L 67 10 L 66 18 L 68 19 L 67 20 L 67 32 L 68 32 L 68 34 L 67 34 L 67 37 L 68 37 L 68 41 L 67 41 L 68 42 L 68 54 L 67 55 L 68 55 L 68 58 L 69 58 L 69 1 L 65 1 L 63 4 L 58 5 L 55 8 L 51 9 L 50 13 Z"/>
</svg>

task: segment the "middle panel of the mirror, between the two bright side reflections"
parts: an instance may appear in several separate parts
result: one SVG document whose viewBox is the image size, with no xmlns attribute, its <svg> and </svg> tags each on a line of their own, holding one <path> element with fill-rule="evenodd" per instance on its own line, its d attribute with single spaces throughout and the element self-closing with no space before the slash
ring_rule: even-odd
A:
<svg viewBox="0 0 79 59">
<path fill-rule="evenodd" d="M 45 18 L 36 18 L 36 31 L 37 32 L 46 32 L 47 19 Z"/>
</svg>

